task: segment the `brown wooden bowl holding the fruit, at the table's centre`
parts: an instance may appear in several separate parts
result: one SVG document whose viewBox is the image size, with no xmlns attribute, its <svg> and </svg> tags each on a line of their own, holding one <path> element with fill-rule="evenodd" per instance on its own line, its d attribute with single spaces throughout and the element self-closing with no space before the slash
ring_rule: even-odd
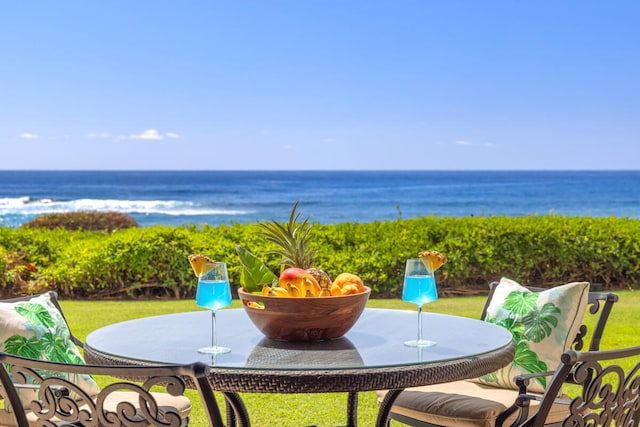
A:
<svg viewBox="0 0 640 427">
<path fill-rule="evenodd" d="M 240 288 L 238 296 L 249 319 L 268 338 L 323 341 L 342 337 L 356 323 L 371 294 L 365 288 L 359 294 L 316 298 L 257 295 Z"/>
</svg>

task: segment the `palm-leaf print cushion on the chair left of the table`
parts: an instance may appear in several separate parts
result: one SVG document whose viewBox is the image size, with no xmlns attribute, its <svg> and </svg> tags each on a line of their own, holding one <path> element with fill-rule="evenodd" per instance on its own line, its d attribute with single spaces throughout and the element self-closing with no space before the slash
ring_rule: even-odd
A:
<svg viewBox="0 0 640 427">
<path fill-rule="evenodd" d="M 49 294 L 26 301 L 0 302 L 0 351 L 30 359 L 84 364 L 62 313 Z M 90 396 L 98 394 L 96 382 L 88 375 L 55 374 L 82 388 Z M 46 375 L 45 375 L 46 376 Z M 21 398 L 25 406 L 32 400 L 26 390 Z"/>
</svg>

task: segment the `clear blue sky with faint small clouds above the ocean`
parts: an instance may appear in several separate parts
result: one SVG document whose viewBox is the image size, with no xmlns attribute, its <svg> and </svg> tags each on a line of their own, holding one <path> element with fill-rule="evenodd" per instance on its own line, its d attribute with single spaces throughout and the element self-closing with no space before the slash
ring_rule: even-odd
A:
<svg viewBox="0 0 640 427">
<path fill-rule="evenodd" d="M 6 1 L 0 169 L 638 169 L 635 0 Z"/>
</svg>

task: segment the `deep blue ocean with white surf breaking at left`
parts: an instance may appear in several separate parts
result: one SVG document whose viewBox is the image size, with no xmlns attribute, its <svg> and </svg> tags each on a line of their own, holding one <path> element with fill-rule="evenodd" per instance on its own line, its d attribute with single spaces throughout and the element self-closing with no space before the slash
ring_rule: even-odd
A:
<svg viewBox="0 0 640 427">
<path fill-rule="evenodd" d="M 301 217 L 328 224 L 419 216 L 640 218 L 640 171 L 0 171 L 0 226 L 117 211 L 141 226 Z"/>
</svg>

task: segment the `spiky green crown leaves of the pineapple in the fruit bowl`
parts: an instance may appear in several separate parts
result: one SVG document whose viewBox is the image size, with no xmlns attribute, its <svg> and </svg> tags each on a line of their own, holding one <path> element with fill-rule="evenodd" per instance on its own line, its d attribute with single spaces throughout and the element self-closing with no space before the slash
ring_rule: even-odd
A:
<svg viewBox="0 0 640 427">
<path fill-rule="evenodd" d="M 315 251 L 308 248 L 309 232 L 313 225 L 309 223 L 309 218 L 298 222 L 300 213 L 296 213 L 297 207 L 298 202 L 293 205 L 287 223 L 276 220 L 259 223 L 262 229 L 259 234 L 278 246 L 278 249 L 268 253 L 282 257 L 281 265 L 306 269 L 313 267 L 315 261 Z"/>
</svg>

